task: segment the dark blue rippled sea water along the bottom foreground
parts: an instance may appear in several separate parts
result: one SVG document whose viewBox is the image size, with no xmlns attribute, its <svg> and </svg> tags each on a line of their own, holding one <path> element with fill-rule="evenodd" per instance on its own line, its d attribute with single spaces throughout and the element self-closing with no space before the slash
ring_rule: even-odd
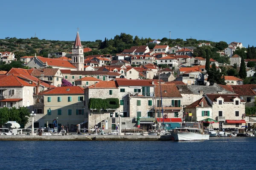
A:
<svg viewBox="0 0 256 170">
<path fill-rule="evenodd" d="M 207 141 L 0 141 L 1 170 L 256 169 L 256 137 Z"/>
</svg>

